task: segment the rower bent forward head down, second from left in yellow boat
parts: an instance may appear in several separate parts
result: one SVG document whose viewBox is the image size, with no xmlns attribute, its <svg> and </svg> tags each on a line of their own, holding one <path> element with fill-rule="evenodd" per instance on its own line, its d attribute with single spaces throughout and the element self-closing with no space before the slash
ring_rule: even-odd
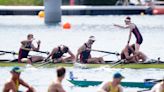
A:
<svg viewBox="0 0 164 92">
<path fill-rule="evenodd" d="M 68 53 L 70 56 L 64 57 L 64 54 Z M 74 61 L 75 55 L 71 52 L 71 50 L 65 46 L 65 45 L 60 45 L 58 47 L 55 47 L 51 53 L 48 55 L 46 60 L 48 60 L 51 57 L 54 63 L 66 63 L 68 61 Z"/>
</svg>

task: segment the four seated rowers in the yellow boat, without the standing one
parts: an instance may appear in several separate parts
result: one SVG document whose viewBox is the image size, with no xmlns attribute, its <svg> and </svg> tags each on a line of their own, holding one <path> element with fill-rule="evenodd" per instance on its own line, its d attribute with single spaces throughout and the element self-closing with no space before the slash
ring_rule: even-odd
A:
<svg viewBox="0 0 164 92">
<path fill-rule="evenodd" d="M 37 42 L 38 46 L 35 47 L 32 43 L 33 35 L 28 34 L 27 40 L 21 42 L 21 48 L 19 50 L 18 62 L 27 62 L 31 64 L 32 62 L 37 61 L 47 61 L 52 59 L 54 63 L 65 63 L 67 61 L 80 61 L 80 63 L 105 63 L 103 57 L 92 57 L 92 45 L 96 41 L 94 36 L 90 36 L 86 43 L 84 43 L 77 51 L 76 57 L 72 51 L 65 45 L 60 45 L 53 48 L 51 53 L 46 57 L 42 56 L 30 56 L 29 52 L 31 50 L 38 51 L 40 49 L 40 41 Z M 68 53 L 69 56 L 64 56 L 65 53 Z M 121 52 L 121 59 L 126 59 L 126 63 L 136 62 L 136 61 L 145 61 L 146 55 L 142 52 L 135 52 L 135 44 L 127 45 Z"/>
</svg>

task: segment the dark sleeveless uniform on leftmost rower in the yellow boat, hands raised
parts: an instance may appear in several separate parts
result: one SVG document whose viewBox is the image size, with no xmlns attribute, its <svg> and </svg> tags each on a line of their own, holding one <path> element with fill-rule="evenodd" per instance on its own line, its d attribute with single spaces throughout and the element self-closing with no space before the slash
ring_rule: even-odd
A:
<svg viewBox="0 0 164 92">
<path fill-rule="evenodd" d="M 25 48 L 31 49 L 31 43 L 27 43 Z M 19 49 L 19 56 L 18 56 L 18 62 L 21 62 L 22 58 L 27 58 L 28 54 L 29 54 L 29 50 L 24 50 L 22 48 Z"/>
</svg>

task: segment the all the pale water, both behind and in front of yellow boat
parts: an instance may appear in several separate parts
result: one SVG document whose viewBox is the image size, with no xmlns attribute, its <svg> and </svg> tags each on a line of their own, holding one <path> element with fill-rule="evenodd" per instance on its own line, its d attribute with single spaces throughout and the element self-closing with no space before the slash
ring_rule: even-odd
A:
<svg viewBox="0 0 164 92">
<path fill-rule="evenodd" d="M 0 42 L 2 43 L 0 45 L 0 50 L 18 52 L 20 41 L 26 39 L 28 33 L 33 33 L 36 39 L 41 40 L 42 51 L 51 51 L 54 47 L 64 44 L 69 46 L 73 53 L 76 53 L 77 49 L 87 41 L 88 37 L 94 35 L 96 36 L 96 42 L 93 45 L 93 49 L 120 52 L 126 45 L 129 30 L 116 28 L 113 24 L 123 25 L 125 17 L 126 16 L 62 16 L 62 23 L 69 22 L 72 25 L 70 30 L 64 30 L 60 24 L 57 26 L 45 25 L 44 20 L 37 16 L 0 16 Z M 143 35 L 144 41 L 141 45 L 141 51 L 150 58 L 161 57 L 163 60 L 164 16 L 131 16 L 131 18 Z M 134 42 L 135 38 L 132 36 L 131 43 Z M 92 55 L 103 56 L 105 54 L 92 52 Z M 13 57 L 12 55 L 0 56 L 0 58 L 16 57 L 17 56 Z M 105 56 L 104 59 L 111 60 L 117 59 L 117 57 L 108 55 Z M 4 80 L 10 76 L 9 70 L 9 67 L 0 68 L 0 90 Z M 88 80 L 109 80 L 112 78 L 112 73 L 115 71 L 120 71 L 125 75 L 126 79 L 124 81 L 143 81 L 145 78 L 162 78 L 162 76 L 164 76 L 163 70 L 160 69 L 110 70 L 100 68 L 81 70 L 68 68 L 68 71 L 70 70 L 75 72 L 75 75 L 79 77 L 79 79 Z M 29 77 L 29 73 L 33 78 Z M 47 76 L 49 77 L 47 78 Z M 22 73 L 22 78 L 34 85 L 38 92 L 45 92 L 47 85 L 55 78 L 54 76 L 54 69 L 39 69 L 37 71 L 25 71 Z M 66 77 L 68 77 L 68 75 Z M 68 90 L 68 92 L 77 92 L 79 90 L 80 92 L 96 92 L 98 88 L 72 88 L 72 85 L 66 80 L 63 82 L 63 85 L 65 85 L 65 89 Z M 138 88 L 126 88 L 125 90 L 125 92 L 135 92 Z"/>
</svg>

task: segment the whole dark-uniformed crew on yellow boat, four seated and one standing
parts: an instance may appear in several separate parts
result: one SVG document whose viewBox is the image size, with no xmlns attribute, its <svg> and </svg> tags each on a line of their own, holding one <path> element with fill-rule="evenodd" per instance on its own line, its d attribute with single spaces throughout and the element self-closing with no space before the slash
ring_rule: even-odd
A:
<svg viewBox="0 0 164 92">
<path fill-rule="evenodd" d="M 114 24 L 114 26 L 119 27 L 119 28 L 124 28 L 124 29 L 129 28 L 130 29 L 127 45 L 121 52 L 121 59 L 126 59 L 127 60 L 126 63 L 136 62 L 136 61 L 140 61 L 140 60 L 145 61 L 147 57 L 145 56 L 145 54 L 143 54 L 141 51 L 139 51 L 140 45 L 143 42 L 143 38 L 142 38 L 142 35 L 141 35 L 139 29 L 137 28 L 137 26 L 134 23 L 131 22 L 130 17 L 127 17 L 125 19 L 125 24 L 126 24 L 126 26 L 120 26 L 120 25 Z M 129 45 L 132 33 L 136 37 L 136 43 L 133 45 Z M 94 36 L 90 36 L 88 41 L 86 43 L 84 43 L 77 50 L 76 57 L 67 46 L 62 45 L 62 46 L 55 47 L 46 59 L 44 59 L 41 56 L 30 56 L 29 55 L 29 51 L 31 51 L 31 50 L 38 51 L 40 49 L 41 41 L 38 41 L 37 47 L 35 47 L 32 43 L 33 40 L 34 40 L 33 34 L 28 34 L 27 40 L 21 41 L 18 62 L 26 61 L 29 64 L 31 64 L 32 62 L 48 60 L 49 58 L 51 58 L 51 59 L 53 59 L 54 63 L 66 62 L 66 61 L 78 61 L 78 60 L 81 63 L 105 63 L 103 60 L 103 57 L 92 57 L 91 56 L 92 45 L 96 41 Z M 70 56 L 63 57 L 65 53 L 68 53 Z"/>
</svg>

